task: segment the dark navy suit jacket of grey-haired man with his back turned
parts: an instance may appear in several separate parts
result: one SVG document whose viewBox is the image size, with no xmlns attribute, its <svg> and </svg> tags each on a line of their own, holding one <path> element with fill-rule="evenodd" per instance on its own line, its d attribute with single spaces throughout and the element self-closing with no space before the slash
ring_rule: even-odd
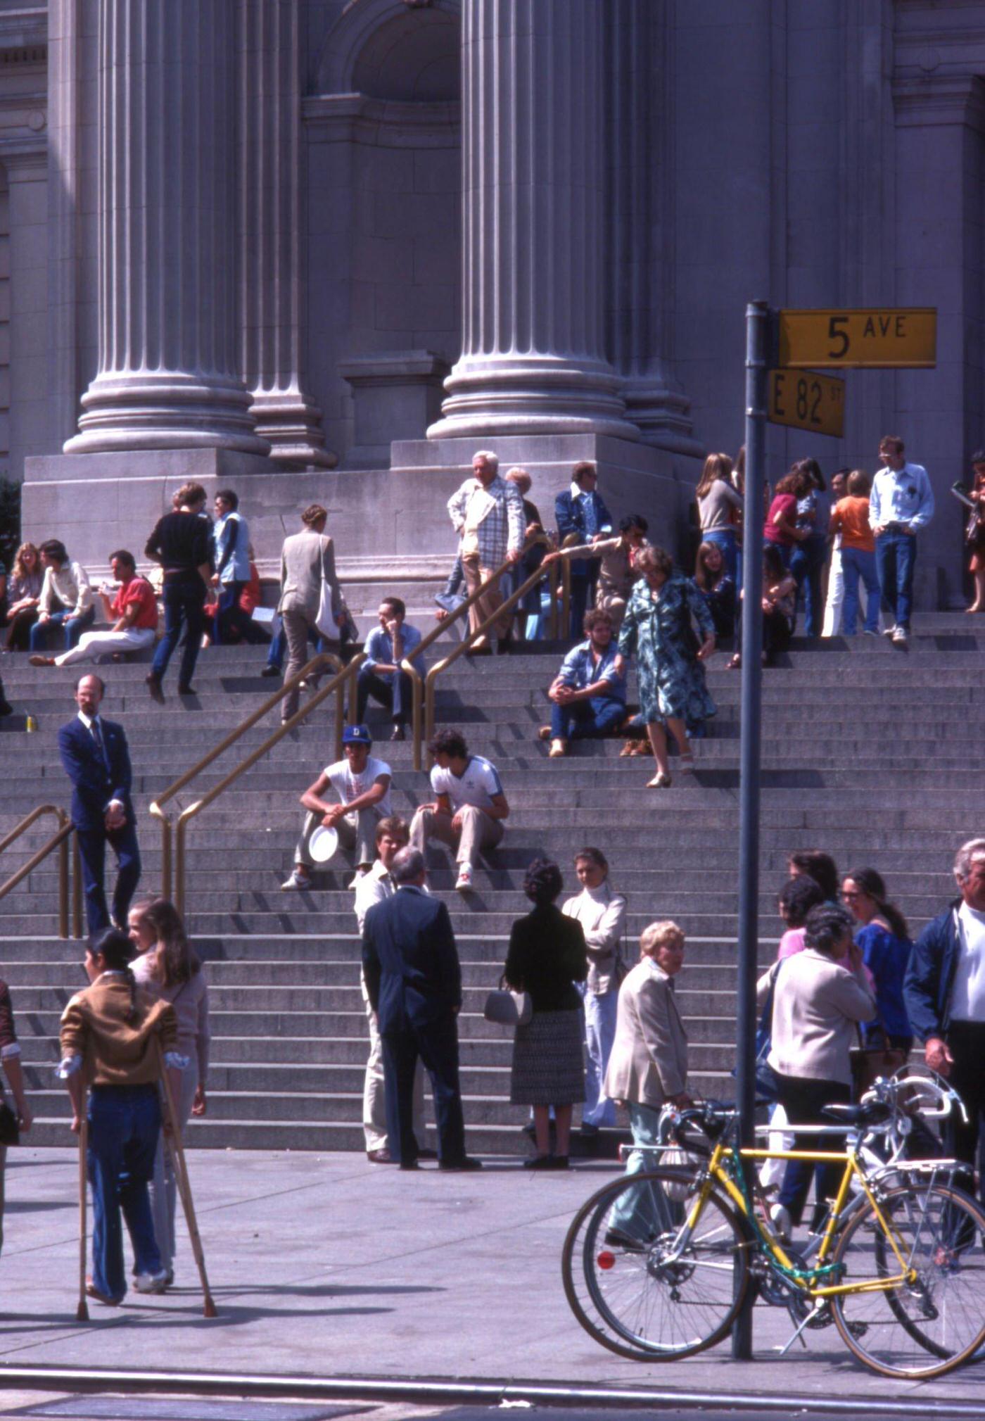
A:
<svg viewBox="0 0 985 1421">
<path fill-rule="evenodd" d="M 445 904 L 414 887 L 374 904 L 362 925 L 362 972 L 381 1036 L 461 1007 L 462 968 Z"/>
</svg>

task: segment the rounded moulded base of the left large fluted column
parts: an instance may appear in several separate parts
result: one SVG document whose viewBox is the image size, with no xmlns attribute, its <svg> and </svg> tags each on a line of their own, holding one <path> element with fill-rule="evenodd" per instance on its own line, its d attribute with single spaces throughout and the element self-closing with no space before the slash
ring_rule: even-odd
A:
<svg viewBox="0 0 985 1421">
<path fill-rule="evenodd" d="M 97 375 L 82 395 L 67 455 L 132 449 L 229 449 L 266 456 L 243 385 L 183 375 Z"/>
</svg>

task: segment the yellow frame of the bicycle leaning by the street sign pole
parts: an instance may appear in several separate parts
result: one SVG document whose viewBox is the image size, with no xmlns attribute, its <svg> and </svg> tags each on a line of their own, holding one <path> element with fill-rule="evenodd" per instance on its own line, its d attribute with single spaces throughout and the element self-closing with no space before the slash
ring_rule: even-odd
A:
<svg viewBox="0 0 985 1421">
<path fill-rule="evenodd" d="M 844 1172 L 841 1175 L 841 1182 L 839 1185 L 839 1192 L 834 1198 L 834 1205 L 827 1219 L 824 1233 L 817 1249 L 817 1262 L 814 1268 L 803 1269 L 799 1268 L 795 1259 L 783 1248 L 782 1241 L 777 1235 L 768 1233 L 756 1211 L 752 1206 L 752 1199 L 746 1196 L 745 1188 L 739 1188 L 735 1179 L 743 1179 L 741 1169 L 741 1161 L 743 1160 L 804 1160 L 810 1164 L 843 1164 Z M 723 1168 L 723 1162 L 729 1161 L 732 1165 L 732 1172 Z M 735 1178 L 732 1177 L 735 1175 Z M 827 1263 L 827 1258 L 834 1246 L 834 1239 L 837 1236 L 839 1225 L 844 1212 L 846 1202 L 851 1189 L 853 1179 L 857 1179 L 861 1189 L 873 1206 L 876 1218 L 880 1222 L 883 1233 L 888 1239 L 890 1248 L 900 1265 L 901 1272 L 891 1277 L 868 1279 L 858 1283 L 823 1283 L 822 1279 L 829 1276 L 836 1265 Z M 698 1225 L 702 1215 L 705 1204 L 718 1185 L 728 1198 L 732 1201 L 739 1215 L 746 1221 L 752 1229 L 759 1248 L 770 1258 L 775 1266 L 777 1266 L 785 1276 L 797 1287 L 800 1287 L 809 1297 L 834 1297 L 839 1293 L 886 1293 L 903 1283 L 914 1283 L 917 1280 L 917 1273 L 913 1268 L 907 1265 L 900 1245 L 895 1239 L 891 1225 L 887 1222 L 883 1211 L 878 1206 L 878 1201 L 874 1192 L 868 1187 L 868 1179 L 866 1172 L 860 1168 L 856 1151 L 849 1150 L 844 1152 L 833 1152 L 826 1150 L 755 1150 L 742 1148 L 736 1150 L 735 1145 L 723 1144 L 721 1140 L 712 1150 L 712 1157 L 708 1161 L 705 1169 L 705 1178 L 701 1182 L 698 1196 L 691 1206 L 691 1212 L 681 1229 L 678 1236 L 678 1246 L 687 1245 L 691 1233 Z"/>
</svg>

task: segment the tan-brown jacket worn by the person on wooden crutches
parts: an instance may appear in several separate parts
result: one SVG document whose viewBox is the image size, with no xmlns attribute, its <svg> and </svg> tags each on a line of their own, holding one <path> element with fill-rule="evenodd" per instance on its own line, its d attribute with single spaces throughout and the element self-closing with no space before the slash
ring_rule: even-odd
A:
<svg viewBox="0 0 985 1421">
<path fill-rule="evenodd" d="M 61 1013 L 61 1059 L 82 1057 L 82 1080 L 92 1086 L 148 1086 L 161 1080 L 161 1053 L 178 1050 L 178 1017 L 169 1002 L 152 1002 L 136 989 L 138 1020 L 127 1016 L 127 978 L 104 972 Z"/>
</svg>

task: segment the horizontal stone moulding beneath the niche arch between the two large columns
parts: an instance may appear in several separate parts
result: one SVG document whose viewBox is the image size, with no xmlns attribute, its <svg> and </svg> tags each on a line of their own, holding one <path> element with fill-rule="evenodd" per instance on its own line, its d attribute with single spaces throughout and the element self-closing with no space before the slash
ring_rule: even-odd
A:
<svg viewBox="0 0 985 1421">
<path fill-rule="evenodd" d="M 301 104 L 311 136 L 380 148 L 453 148 L 461 141 L 458 102 L 414 104 L 365 94 L 316 94 Z"/>
</svg>

